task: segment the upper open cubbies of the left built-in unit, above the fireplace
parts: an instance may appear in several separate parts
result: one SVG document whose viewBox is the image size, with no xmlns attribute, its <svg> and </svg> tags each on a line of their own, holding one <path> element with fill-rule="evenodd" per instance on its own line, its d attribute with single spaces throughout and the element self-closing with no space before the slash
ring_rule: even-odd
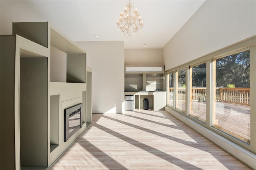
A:
<svg viewBox="0 0 256 170">
<path fill-rule="evenodd" d="M 86 52 L 48 22 L 16 22 L 12 31 L 50 49 L 51 82 L 86 83 Z"/>
</svg>

